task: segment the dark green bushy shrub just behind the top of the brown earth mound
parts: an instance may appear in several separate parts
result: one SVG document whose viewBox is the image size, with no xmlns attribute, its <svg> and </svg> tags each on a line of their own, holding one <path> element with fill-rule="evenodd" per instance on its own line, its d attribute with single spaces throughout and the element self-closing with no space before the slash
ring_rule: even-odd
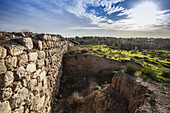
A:
<svg viewBox="0 0 170 113">
<path fill-rule="evenodd" d="M 140 68 L 139 68 L 139 66 L 137 66 L 135 64 L 128 64 L 127 66 L 124 67 L 123 70 L 130 75 L 134 75 L 134 73 L 136 71 L 139 71 Z"/>
</svg>

